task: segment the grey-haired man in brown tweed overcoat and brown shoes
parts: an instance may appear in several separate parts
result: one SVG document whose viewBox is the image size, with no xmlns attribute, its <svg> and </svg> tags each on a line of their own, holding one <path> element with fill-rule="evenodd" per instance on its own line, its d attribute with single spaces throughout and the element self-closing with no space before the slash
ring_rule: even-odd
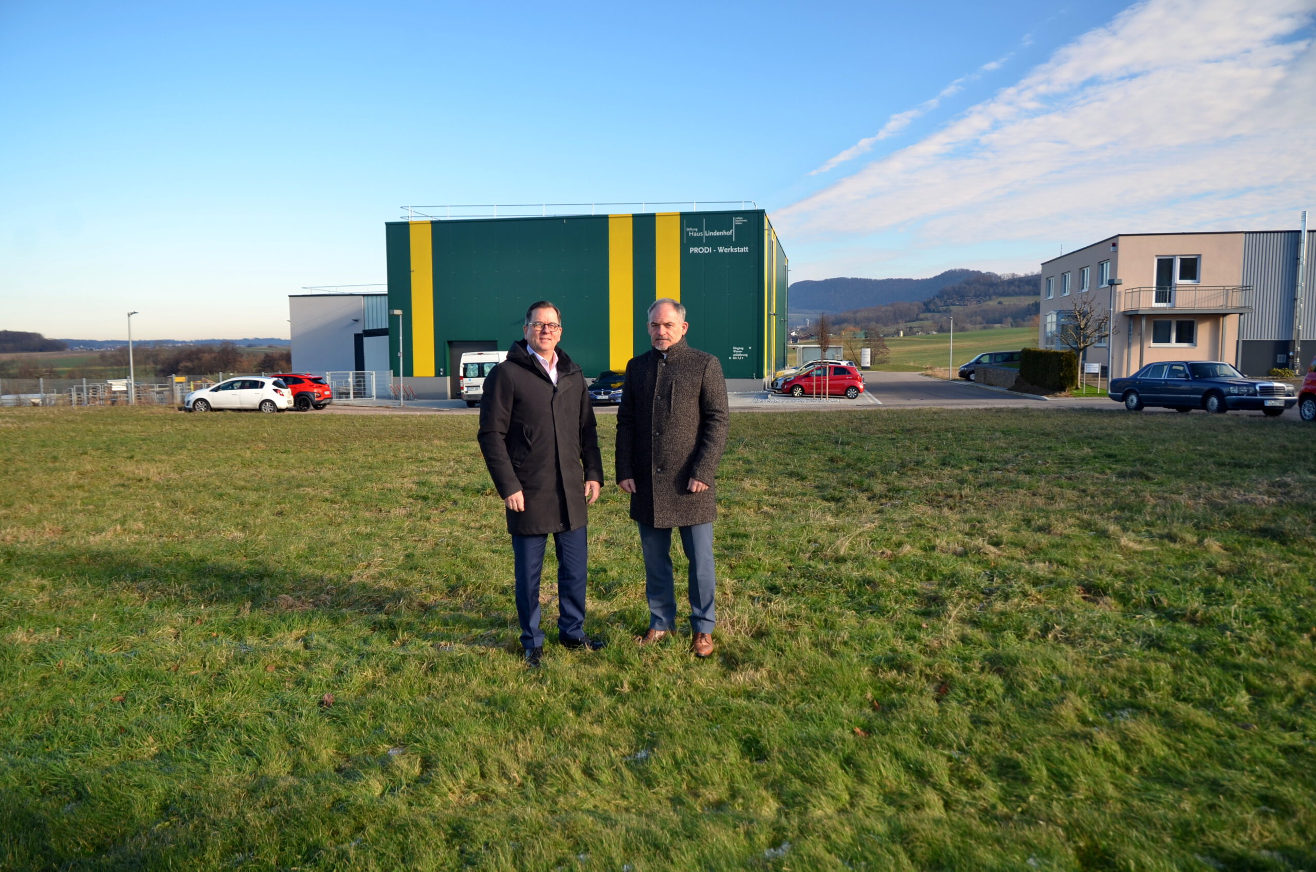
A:
<svg viewBox="0 0 1316 872">
<path fill-rule="evenodd" d="M 726 447 L 726 382 L 716 357 L 686 344 L 686 307 L 663 298 L 649 307 L 653 349 L 626 365 L 617 408 L 617 485 L 630 494 L 645 555 L 649 631 L 640 644 L 676 628 L 671 531 L 690 560 L 691 651 L 713 653 L 713 478 Z"/>
</svg>

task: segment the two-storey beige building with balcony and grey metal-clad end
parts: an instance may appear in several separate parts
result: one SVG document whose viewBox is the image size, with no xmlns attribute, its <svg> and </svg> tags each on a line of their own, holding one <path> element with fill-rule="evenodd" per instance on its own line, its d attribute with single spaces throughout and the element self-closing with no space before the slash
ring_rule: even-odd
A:
<svg viewBox="0 0 1316 872">
<path fill-rule="evenodd" d="M 1316 232 L 1308 232 L 1308 252 Z M 1170 360 L 1228 361 L 1249 375 L 1291 366 L 1299 231 L 1124 233 L 1042 263 L 1038 344 L 1059 340 L 1075 300 L 1113 311 L 1088 349 L 1109 378 Z M 1307 257 L 1300 354 L 1316 354 L 1313 258 Z M 1112 285 L 1120 279 L 1120 285 Z"/>
</svg>

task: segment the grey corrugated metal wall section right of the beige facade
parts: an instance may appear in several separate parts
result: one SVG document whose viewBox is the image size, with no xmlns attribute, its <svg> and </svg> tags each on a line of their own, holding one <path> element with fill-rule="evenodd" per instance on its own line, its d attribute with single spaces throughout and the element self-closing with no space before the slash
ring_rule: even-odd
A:
<svg viewBox="0 0 1316 872">
<path fill-rule="evenodd" d="M 1242 283 L 1253 286 L 1253 312 L 1242 316 L 1242 340 L 1292 340 L 1298 282 L 1298 231 L 1244 233 Z M 1316 340 L 1316 231 L 1307 233 L 1303 345 Z"/>
</svg>

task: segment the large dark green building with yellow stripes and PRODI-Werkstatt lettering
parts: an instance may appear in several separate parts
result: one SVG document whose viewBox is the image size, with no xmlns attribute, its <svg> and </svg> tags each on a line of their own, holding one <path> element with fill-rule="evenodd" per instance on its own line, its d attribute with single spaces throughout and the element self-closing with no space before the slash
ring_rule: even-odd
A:
<svg viewBox="0 0 1316 872">
<path fill-rule="evenodd" d="M 525 307 L 562 308 L 562 348 L 584 370 L 621 370 L 649 348 L 645 313 L 670 296 L 695 348 L 732 390 L 786 361 L 787 259 L 763 209 L 391 221 L 390 354 L 417 395 L 457 396 L 462 352 L 521 339 Z M 400 324 L 399 324 L 400 323 Z"/>
</svg>

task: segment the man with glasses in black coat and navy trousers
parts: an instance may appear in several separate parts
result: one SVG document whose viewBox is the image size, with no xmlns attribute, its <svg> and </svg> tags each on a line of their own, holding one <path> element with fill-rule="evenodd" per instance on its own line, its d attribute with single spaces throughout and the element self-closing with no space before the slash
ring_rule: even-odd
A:
<svg viewBox="0 0 1316 872">
<path fill-rule="evenodd" d="M 532 304 L 524 333 L 484 379 L 479 444 L 507 508 L 525 661 L 538 667 L 540 576 L 550 533 L 558 556 L 558 641 L 588 651 L 604 644 L 584 635 L 587 507 L 603 486 L 603 458 L 584 374 L 558 348 L 558 307 Z"/>
</svg>

